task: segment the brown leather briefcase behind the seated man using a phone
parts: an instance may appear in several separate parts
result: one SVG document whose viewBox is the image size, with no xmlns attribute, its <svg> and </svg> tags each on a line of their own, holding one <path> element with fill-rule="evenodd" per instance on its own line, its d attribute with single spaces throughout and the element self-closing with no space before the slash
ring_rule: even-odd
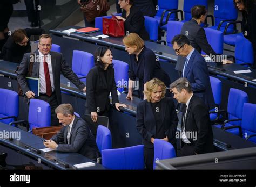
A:
<svg viewBox="0 0 256 187">
<path fill-rule="evenodd" d="M 62 129 L 62 127 L 62 125 L 59 125 L 52 127 L 33 128 L 32 132 L 33 134 L 40 136 L 41 138 L 49 140 L 50 138 L 52 138 L 52 136 L 57 134 L 60 131 L 60 129 Z"/>
</svg>

